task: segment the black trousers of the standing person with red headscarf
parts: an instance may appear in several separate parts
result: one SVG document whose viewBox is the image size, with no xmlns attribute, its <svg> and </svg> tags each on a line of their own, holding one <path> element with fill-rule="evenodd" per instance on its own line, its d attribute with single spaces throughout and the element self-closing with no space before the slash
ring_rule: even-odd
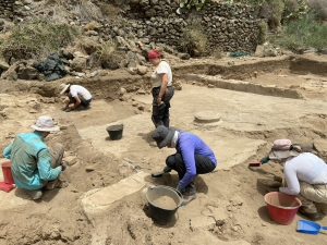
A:
<svg viewBox="0 0 327 245">
<path fill-rule="evenodd" d="M 152 90 L 153 94 L 153 115 L 152 120 L 155 126 L 165 125 L 169 127 L 169 108 L 170 108 L 170 100 L 174 94 L 174 88 L 172 86 L 167 87 L 167 93 L 165 94 L 160 106 L 157 105 L 158 96 L 160 93 L 160 87 L 154 87 Z"/>
</svg>

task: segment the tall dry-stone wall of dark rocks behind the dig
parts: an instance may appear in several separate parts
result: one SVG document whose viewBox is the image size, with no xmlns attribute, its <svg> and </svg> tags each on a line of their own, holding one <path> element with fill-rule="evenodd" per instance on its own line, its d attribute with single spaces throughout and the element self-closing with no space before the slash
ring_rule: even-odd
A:
<svg viewBox="0 0 327 245">
<path fill-rule="evenodd" d="M 130 5 L 126 17 L 133 20 L 133 24 L 126 32 L 137 38 L 178 47 L 183 29 L 195 23 L 207 35 L 213 48 L 254 51 L 257 46 L 259 20 L 255 10 L 247 5 L 208 2 L 202 11 L 184 14 L 177 14 L 178 1 L 174 0 L 136 0 Z"/>
</svg>

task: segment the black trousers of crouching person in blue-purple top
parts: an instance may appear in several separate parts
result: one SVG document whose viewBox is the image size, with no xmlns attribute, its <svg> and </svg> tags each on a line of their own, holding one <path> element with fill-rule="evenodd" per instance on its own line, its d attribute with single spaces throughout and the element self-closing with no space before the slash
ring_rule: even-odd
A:
<svg viewBox="0 0 327 245">
<path fill-rule="evenodd" d="M 183 179 L 184 174 L 186 173 L 186 167 L 182 155 L 174 154 L 169 156 L 166 159 L 166 164 L 178 172 L 179 179 Z M 211 160 L 207 157 L 195 155 L 195 167 L 196 167 L 196 174 L 205 174 L 211 172 L 216 166 Z"/>
</svg>

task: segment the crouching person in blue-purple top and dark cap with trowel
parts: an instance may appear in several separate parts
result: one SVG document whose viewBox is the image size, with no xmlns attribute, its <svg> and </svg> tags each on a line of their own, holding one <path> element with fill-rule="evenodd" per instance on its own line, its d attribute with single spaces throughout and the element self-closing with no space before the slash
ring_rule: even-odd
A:
<svg viewBox="0 0 327 245">
<path fill-rule="evenodd" d="M 174 170 L 179 174 L 177 189 L 183 195 L 184 203 L 196 197 L 194 180 L 197 174 L 213 172 L 217 167 L 214 151 L 196 135 L 160 125 L 153 134 L 159 149 L 175 148 L 174 155 L 166 159 L 164 172 Z"/>
</svg>

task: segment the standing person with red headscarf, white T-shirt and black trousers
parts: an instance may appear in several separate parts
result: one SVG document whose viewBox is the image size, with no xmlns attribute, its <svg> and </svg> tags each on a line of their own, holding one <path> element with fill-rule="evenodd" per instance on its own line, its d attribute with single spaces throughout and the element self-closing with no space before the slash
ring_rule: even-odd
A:
<svg viewBox="0 0 327 245">
<path fill-rule="evenodd" d="M 169 63 L 162 60 L 162 54 L 154 49 L 148 52 L 149 62 L 155 65 L 152 74 L 153 115 L 155 126 L 169 127 L 170 100 L 174 94 L 172 86 L 172 72 Z"/>
</svg>

